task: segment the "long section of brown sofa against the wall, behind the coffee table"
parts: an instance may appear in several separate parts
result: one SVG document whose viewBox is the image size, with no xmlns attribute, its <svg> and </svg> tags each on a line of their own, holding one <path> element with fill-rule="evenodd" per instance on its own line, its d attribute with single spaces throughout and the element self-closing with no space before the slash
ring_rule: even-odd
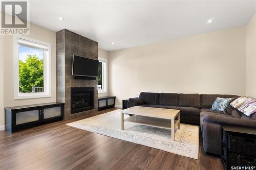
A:
<svg viewBox="0 0 256 170">
<path fill-rule="evenodd" d="M 217 97 L 238 98 L 237 95 L 222 94 L 183 94 L 183 93 L 150 93 L 141 92 L 139 98 L 130 98 L 127 107 L 146 106 L 167 109 L 178 109 L 181 113 L 181 123 L 200 125 L 200 112 L 215 112 L 210 110 Z"/>
</svg>

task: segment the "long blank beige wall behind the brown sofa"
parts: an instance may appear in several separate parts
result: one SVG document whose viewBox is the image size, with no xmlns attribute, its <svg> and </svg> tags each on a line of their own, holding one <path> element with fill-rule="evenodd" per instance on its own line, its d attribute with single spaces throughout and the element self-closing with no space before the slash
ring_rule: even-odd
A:
<svg viewBox="0 0 256 170">
<path fill-rule="evenodd" d="M 246 94 L 246 28 L 234 28 L 109 53 L 109 93 Z"/>
</svg>

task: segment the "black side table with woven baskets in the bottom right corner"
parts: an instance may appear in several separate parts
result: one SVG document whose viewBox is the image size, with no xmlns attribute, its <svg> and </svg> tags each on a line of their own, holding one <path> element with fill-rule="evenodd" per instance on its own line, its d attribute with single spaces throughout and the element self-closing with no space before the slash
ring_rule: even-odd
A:
<svg viewBox="0 0 256 170">
<path fill-rule="evenodd" d="M 221 126 L 224 168 L 256 169 L 256 128 Z"/>
</svg>

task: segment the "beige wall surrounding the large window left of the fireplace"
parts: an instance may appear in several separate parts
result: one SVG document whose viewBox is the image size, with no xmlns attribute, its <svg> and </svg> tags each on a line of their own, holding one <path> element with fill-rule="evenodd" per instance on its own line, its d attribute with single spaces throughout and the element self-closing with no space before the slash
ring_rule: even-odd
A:
<svg viewBox="0 0 256 170">
<path fill-rule="evenodd" d="M 50 98 L 37 99 L 21 99 L 13 100 L 13 36 L 2 36 L 1 52 L 3 53 L 3 70 L 1 69 L 1 77 L 3 76 L 4 88 L 4 106 L 0 109 L 0 126 L 4 125 L 4 109 L 3 107 L 21 106 L 39 103 L 56 102 L 56 33 L 54 31 L 30 24 L 30 38 L 51 43 L 51 89 Z M 2 63 L 2 62 L 0 62 Z M 1 65 L 0 65 L 1 66 Z M 2 72 L 3 71 L 3 72 Z M 0 78 L 1 78 L 0 77 Z M 1 98 L 0 98 L 1 101 Z"/>
</svg>

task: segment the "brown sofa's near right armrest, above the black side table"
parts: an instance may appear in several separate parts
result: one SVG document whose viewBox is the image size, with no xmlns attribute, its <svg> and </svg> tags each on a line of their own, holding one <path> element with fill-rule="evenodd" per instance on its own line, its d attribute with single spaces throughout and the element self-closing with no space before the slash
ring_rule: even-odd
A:
<svg viewBox="0 0 256 170">
<path fill-rule="evenodd" d="M 256 128 L 255 120 L 245 120 L 245 119 L 241 119 L 241 118 L 225 117 L 225 116 L 213 115 L 213 114 L 205 115 L 203 117 L 203 122 L 226 124 L 226 125 L 238 125 L 238 126 Z"/>
</svg>

